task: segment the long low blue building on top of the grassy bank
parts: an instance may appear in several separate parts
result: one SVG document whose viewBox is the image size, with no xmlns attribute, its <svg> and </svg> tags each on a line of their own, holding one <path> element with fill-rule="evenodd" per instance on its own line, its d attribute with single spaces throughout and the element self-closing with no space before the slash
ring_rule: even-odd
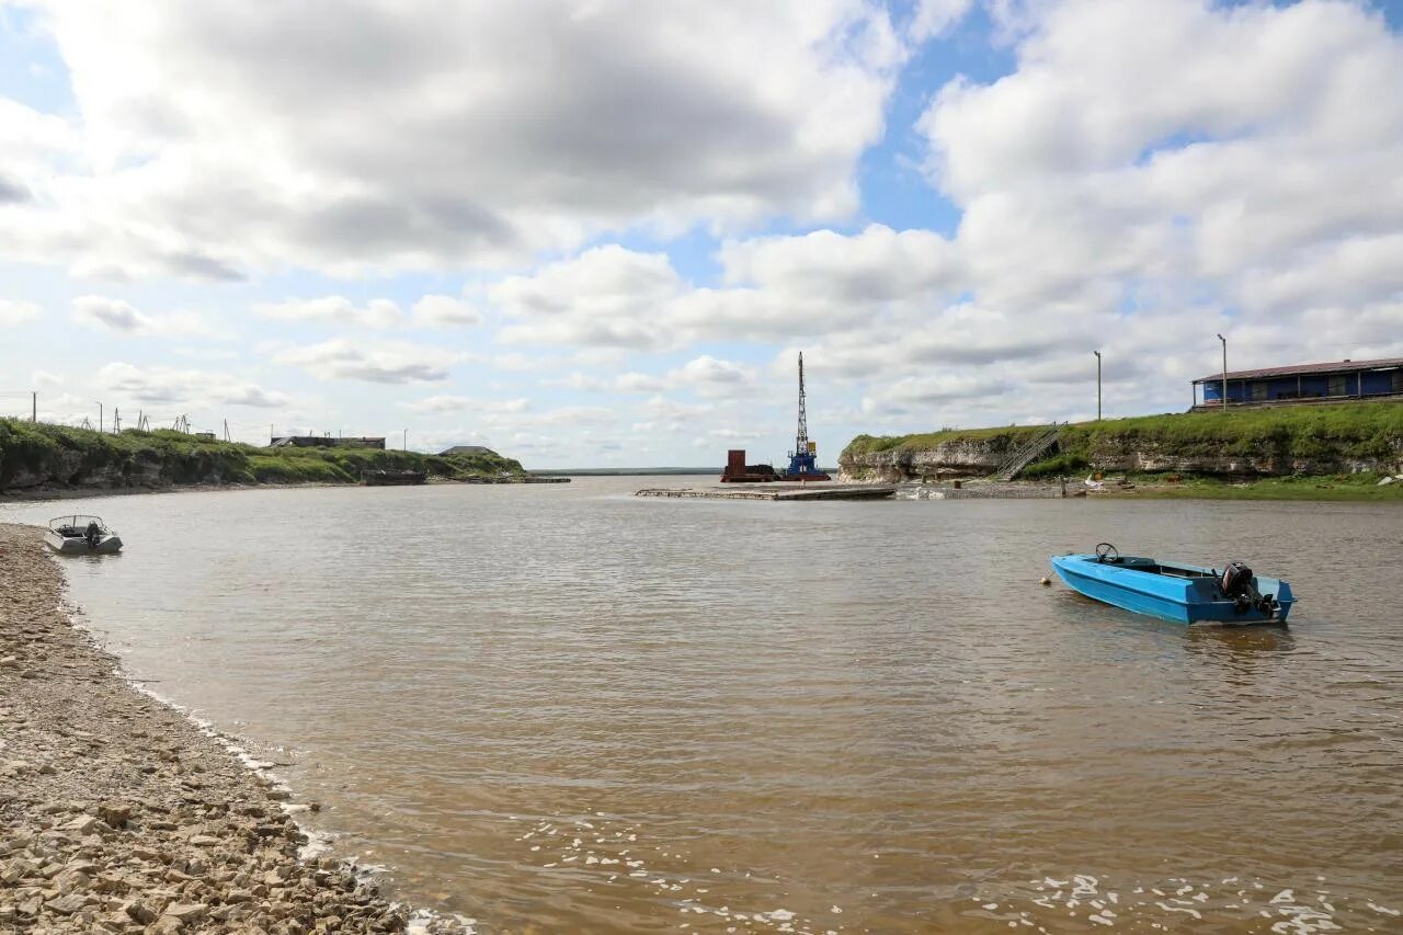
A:
<svg viewBox="0 0 1403 935">
<path fill-rule="evenodd" d="M 1229 371 L 1226 385 L 1229 406 L 1282 406 L 1361 399 L 1403 400 L 1403 357 Z M 1222 373 L 1194 380 L 1194 409 L 1212 409 L 1222 403 Z"/>
</svg>

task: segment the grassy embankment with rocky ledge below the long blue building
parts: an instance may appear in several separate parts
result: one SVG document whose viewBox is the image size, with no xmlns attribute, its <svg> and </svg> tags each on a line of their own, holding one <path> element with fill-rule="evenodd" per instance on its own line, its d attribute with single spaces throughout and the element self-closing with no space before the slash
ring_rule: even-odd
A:
<svg viewBox="0 0 1403 935">
<path fill-rule="evenodd" d="M 843 459 L 894 449 L 925 451 L 948 442 L 1000 444 L 1012 448 L 1045 427 L 941 430 L 916 435 L 859 435 Z M 1002 438 L 1000 438 L 1002 437 Z M 1003 446 L 1000 445 L 1000 448 Z M 1023 480 L 1115 470 L 1125 452 L 1163 458 L 1254 459 L 1306 465 L 1291 476 L 1225 473 L 1129 475 L 1150 496 L 1263 500 L 1403 501 L 1403 483 L 1378 486 L 1379 473 L 1345 473 L 1350 460 L 1376 460 L 1382 470 L 1403 470 L 1403 404 L 1360 403 L 1281 409 L 1177 413 L 1107 418 L 1068 425 L 1058 453 L 1028 465 Z M 1139 490 L 1139 489 L 1138 489 Z"/>
</svg>

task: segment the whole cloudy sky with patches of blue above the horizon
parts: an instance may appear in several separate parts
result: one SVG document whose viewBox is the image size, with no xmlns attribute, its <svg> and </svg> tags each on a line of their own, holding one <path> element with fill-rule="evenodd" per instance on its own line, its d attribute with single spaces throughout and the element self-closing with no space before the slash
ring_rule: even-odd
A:
<svg viewBox="0 0 1403 935">
<path fill-rule="evenodd" d="M 1403 3 L 0 0 L 0 414 L 780 460 L 1403 355 Z"/>
</svg>

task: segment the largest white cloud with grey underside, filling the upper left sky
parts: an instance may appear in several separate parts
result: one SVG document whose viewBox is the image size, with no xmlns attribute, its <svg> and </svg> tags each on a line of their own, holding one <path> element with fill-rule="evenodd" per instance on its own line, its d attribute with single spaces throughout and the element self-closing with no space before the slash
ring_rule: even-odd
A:
<svg viewBox="0 0 1403 935">
<path fill-rule="evenodd" d="M 109 277 L 481 265 L 839 218 L 906 53 L 864 0 L 25 6 L 81 121 L 25 115 L 52 139 L 15 175 L 8 248 Z"/>
</svg>

